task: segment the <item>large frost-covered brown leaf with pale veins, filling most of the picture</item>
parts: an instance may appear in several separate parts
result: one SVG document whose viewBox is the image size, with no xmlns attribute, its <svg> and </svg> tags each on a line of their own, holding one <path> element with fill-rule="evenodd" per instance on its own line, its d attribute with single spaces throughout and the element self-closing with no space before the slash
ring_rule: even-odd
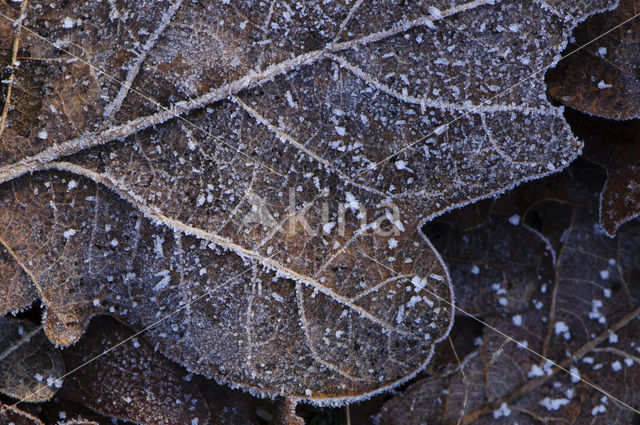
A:
<svg viewBox="0 0 640 425">
<path fill-rule="evenodd" d="M 150 332 L 197 373 L 331 403 L 424 367 L 453 297 L 422 222 L 577 155 L 531 74 L 614 2 L 361 3 L 2 3 L 56 43 L 0 20 L 44 78 L 2 134 L 3 267 L 53 341 L 210 295 Z"/>
</svg>

